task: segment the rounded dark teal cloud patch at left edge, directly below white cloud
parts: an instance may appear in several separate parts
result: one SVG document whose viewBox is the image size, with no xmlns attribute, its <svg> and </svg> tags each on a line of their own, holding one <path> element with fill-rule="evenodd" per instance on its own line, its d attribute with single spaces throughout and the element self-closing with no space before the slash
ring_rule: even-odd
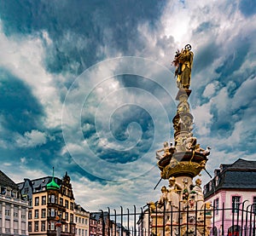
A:
<svg viewBox="0 0 256 236">
<path fill-rule="evenodd" d="M 3 127 L 23 134 L 38 129 L 44 109 L 32 91 L 19 78 L 0 68 L 0 114 Z"/>
</svg>

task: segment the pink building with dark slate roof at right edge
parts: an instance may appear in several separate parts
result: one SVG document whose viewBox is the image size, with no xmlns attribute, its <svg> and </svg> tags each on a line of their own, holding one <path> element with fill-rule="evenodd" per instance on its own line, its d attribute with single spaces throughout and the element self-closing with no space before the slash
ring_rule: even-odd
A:
<svg viewBox="0 0 256 236">
<path fill-rule="evenodd" d="M 214 206 L 212 235 L 253 235 L 256 161 L 240 158 L 233 164 L 221 164 L 204 186 L 204 195 Z"/>
</svg>

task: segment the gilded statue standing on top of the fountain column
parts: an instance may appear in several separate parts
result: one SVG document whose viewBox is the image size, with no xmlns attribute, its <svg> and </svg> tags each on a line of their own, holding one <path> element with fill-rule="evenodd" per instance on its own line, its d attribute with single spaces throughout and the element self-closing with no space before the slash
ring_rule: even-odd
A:
<svg viewBox="0 0 256 236">
<path fill-rule="evenodd" d="M 177 49 L 172 64 L 176 66 L 175 77 L 177 77 L 178 89 L 189 89 L 193 56 L 190 44 L 187 44 L 181 52 Z"/>
</svg>

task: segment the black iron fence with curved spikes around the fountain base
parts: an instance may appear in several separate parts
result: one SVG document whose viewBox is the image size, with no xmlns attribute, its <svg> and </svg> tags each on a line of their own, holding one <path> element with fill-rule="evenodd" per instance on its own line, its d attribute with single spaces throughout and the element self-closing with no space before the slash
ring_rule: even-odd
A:
<svg viewBox="0 0 256 236">
<path fill-rule="evenodd" d="M 225 208 L 224 204 L 222 207 L 204 204 L 200 210 L 196 205 L 189 208 L 189 205 L 180 204 L 179 209 L 158 209 L 150 204 L 142 208 L 108 208 L 101 214 L 101 235 L 256 236 L 254 204 L 241 203 L 236 207 L 233 204 L 231 208 Z"/>
</svg>

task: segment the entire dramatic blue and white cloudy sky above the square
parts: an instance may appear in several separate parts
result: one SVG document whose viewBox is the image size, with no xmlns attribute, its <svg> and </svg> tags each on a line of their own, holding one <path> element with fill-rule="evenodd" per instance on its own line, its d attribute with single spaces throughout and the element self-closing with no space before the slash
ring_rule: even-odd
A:
<svg viewBox="0 0 256 236">
<path fill-rule="evenodd" d="M 1 0 L 1 170 L 67 171 L 87 210 L 158 199 L 154 152 L 173 140 L 171 63 L 187 43 L 207 170 L 255 160 L 255 22 L 253 0 Z"/>
</svg>

